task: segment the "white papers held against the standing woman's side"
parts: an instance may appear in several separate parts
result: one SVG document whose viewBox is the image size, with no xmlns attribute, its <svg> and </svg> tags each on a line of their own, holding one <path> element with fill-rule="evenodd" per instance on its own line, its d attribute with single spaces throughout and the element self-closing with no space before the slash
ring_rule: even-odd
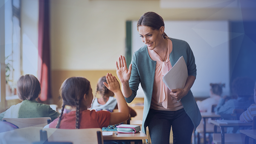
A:
<svg viewBox="0 0 256 144">
<path fill-rule="evenodd" d="M 172 66 L 169 72 L 163 76 L 163 82 L 170 90 L 183 89 L 185 87 L 187 78 L 188 69 L 183 56 L 181 56 L 175 65 Z M 180 100 L 177 102 L 180 102 Z"/>
</svg>

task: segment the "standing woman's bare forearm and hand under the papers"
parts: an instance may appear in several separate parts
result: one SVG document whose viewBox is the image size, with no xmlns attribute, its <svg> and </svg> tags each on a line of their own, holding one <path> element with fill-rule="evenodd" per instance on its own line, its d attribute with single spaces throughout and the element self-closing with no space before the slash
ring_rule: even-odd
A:
<svg viewBox="0 0 256 144">
<path fill-rule="evenodd" d="M 173 99 L 175 99 L 176 101 L 179 101 L 181 98 L 183 98 L 185 95 L 188 94 L 194 82 L 195 82 L 195 76 L 190 75 L 187 78 L 185 87 L 183 89 L 172 89 L 170 95 L 172 96 Z"/>
</svg>

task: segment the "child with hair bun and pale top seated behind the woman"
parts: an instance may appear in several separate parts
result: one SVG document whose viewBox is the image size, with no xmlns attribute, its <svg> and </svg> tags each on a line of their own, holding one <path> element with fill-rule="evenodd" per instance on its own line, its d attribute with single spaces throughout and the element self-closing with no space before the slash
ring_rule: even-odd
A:
<svg viewBox="0 0 256 144">
<path fill-rule="evenodd" d="M 217 105 L 218 101 L 221 99 L 222 87 L 225 87 L 225 84 L 210 84 L 210 87 L 210 98 L 204 101 L 197 101 L 200 112 L 212 111 L 212 105 Z"/>
</svg>

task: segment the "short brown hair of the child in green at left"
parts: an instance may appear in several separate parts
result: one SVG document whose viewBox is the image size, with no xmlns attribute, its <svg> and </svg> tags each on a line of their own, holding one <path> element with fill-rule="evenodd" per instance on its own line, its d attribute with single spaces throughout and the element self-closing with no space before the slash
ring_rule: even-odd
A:
<svg viewBox="0 0 256 144">
<path fill-rule="evenodd" d="M 17 81 L 17 94 L 21 101 L 35 100 L 41 93 L 41 86 L 34 75 L 22 75 Z"/>
</svg>

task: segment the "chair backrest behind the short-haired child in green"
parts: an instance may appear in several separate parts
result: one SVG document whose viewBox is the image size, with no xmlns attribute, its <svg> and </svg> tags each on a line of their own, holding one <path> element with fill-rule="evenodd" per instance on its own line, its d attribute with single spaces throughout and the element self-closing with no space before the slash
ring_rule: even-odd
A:
<svg viewBox="0 0 256 144">
<path fill-rule="evenodd" d="M 25 127 L 44 127 L 46 126 L 47 120 L 51 120 L 50 117 L 42 118 L 3 118 L 3 121 L 15 124 L 19 128 Z"/>
</svg>

